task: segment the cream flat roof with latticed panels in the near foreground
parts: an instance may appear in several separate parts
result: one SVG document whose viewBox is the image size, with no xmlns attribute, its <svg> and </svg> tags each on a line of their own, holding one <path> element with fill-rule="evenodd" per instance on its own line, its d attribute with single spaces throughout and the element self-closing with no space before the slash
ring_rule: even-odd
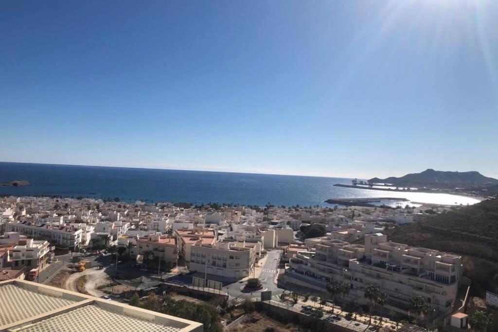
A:
<svg viewBox="0 0 498 332">
<path fill-rule="evenodd" d="M 0 282 L 0 331 L 202 332 L 198 322 L 24 280 Z"/>
</svg>

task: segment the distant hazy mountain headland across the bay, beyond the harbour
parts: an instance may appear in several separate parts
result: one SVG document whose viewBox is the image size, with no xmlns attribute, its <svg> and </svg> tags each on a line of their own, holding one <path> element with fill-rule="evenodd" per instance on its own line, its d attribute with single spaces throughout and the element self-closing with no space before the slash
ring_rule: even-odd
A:
<svg viewBox="0 0 498 332">
<path fill-rule="evenodd" d="M 427 188 L 476 188 L 498 184 L 497 179 L 488 178 L 479 172 L 446 172 L 427 169 L 421 173 L 406 174 L 396 178 L 373 178 L 369 182 L 389 183 L 396 187 L 427 187 Z"/>
</svg>

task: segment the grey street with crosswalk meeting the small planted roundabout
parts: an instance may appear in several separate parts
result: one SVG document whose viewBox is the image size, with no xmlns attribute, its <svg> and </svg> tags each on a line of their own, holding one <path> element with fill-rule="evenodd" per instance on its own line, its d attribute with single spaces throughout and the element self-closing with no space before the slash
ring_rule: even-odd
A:
<svg viewBox="0 0 498 332">
<path fill-rule="evenodd" d="M 282 289 L 279 289 L 274 281 L 275 276 L 278 272 L 278 259 L 280 257 L 281 250 L 271 250 L 267 252 L 268 258 L 262 267 L 261 274 L 259 275 L 259 281 L 263 286 L 263 290 L 268 290 L 272 292 L 272 295 L 278 295 L 282 293 Z M 253 297 L 259 297 L 260 292 L 244 293 L 241 288 L 244 287 L 244 282 L 236 282 L 234 284 L 227 285 L 223 287 L 223 291 L 230 294 L 231 300 L 244 301 L 251 299 Z"/>
</svg>

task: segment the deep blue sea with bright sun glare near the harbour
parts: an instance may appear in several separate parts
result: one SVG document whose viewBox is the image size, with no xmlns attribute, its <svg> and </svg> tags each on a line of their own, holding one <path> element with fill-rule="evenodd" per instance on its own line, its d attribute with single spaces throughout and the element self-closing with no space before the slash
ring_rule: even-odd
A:
<svg viewBox="0 0 498 332">
<path fill-rule="evenodd" d="M 242 204 L 332 207 L 327 199 L 392 197 L 382 204 L 472 205 L 479 201 L 438 193 L 403 193 L 334 187 L 348 178 L 184 171 L 166 169 L 70 166 L 0 162 L 0 182 L 26 180 L 25 187 L 0 186 L 0 195 L 115 198 L 133 203 L 189 202 L 195 205 Z M 400 202 L 405 198 L 408 202 Z"/>
</svg>

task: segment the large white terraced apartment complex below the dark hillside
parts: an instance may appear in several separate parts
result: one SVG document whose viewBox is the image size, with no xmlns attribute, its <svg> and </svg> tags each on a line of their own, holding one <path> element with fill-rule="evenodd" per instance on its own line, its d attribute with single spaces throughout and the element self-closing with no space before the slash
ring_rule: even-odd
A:
<svg viewBox="0 0 498 332">
<path fill-rule="evenodd" d="M 287 283 L 325 290 L 331 279 L 351 285 L 347 299 L 365 303 L 364 291 L 378 285 L 387 308 L 407 314 L 414 296 L 423 296 L 439 312 L 455 305 L 462 277 L 461 256 L 388 242 L 381 233 L 365 235 L 365 245 L 317 239 L 315 253 L 298 253 L 285 272 Z"/>
</svg>

